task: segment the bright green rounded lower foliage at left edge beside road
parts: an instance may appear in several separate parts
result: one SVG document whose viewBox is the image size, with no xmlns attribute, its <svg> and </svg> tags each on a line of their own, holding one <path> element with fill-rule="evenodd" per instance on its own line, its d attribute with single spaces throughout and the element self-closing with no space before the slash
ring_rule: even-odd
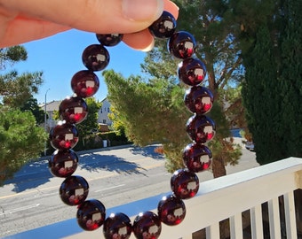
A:
<svg viewBox="0 0 302 239">
<path fill-rule="evenodd" d="M 21 166 L 39 156 L 46 134 L 31 112 L 0 106 L 0 186 Z"/>
</svg>

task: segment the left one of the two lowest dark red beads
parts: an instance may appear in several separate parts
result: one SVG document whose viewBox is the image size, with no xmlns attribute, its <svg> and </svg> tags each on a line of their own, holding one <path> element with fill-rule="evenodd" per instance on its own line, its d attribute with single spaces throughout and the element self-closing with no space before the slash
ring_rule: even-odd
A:
<svg viewBox="0 0 302 239">
<path fill-rule="evenodd" d="M 111 213 L 104 222 L 103 234 L 106 239 L 128 239 L 131 232 L 131 220 L 122 212 Z"/>
</svg>

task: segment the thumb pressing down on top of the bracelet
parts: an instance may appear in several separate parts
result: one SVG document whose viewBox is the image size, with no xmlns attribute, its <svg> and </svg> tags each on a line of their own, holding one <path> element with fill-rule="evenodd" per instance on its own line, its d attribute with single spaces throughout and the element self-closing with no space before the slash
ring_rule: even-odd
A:
<svg viewBox="0 0 302 239">
<path fill-rule="evenodd" d="M 158 19 L 164 0 L 10 0 L 6 7 L 34 18 L 94 33 L 132 33 Z"/>
</svg>

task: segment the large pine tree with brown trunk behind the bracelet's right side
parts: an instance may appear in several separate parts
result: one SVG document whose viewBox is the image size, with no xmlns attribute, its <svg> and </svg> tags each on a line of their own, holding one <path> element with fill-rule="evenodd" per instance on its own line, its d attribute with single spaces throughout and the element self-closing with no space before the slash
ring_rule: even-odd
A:
<svg viewBox="0 0 302 239">
<path fill-rule="evenodd" d="M 210 144 L 213 148 L 212 151 L 219 151 L 223 153 L 223 156 L 218 156 L 215 154 L 213 157 L 213 173 L 215 177 L 218 177 L 226 174 L 225 164 L 227 164 L 228 162 L 235 164 L 240 155 L 238 149 L 233 145 L 233 143 L 226 140 L 230 135 L 230 132 L 226 119 L 223 119 L 225 118 L 225 115 L 222 109 L 222 105 L 224 93 L 223 89 L 227 86 L 227 84 L 231 82 L 236 84 L 237 82 L 241 81 L 242 71 L 240 68 L 241 58 L 235 48 L 233 36 L 229 34 L 229 25 L 221 20 L 221 15 L 226 7 L 224 4 L 219 3 L 215 5 L 214 9 L 212 2 L 213 1 L 197 0 L 177 1 L 177 4 L 180 7 L 178 22 L 179 29 L 186 29 L 188 32 L 195 35 L 197 41 L 197 57 L 202 58 L 207 66 L 208 87 L 214 93 L 214 96 L 216 98 L 216 110 L 215 112 L 213 111 L 211 115 L 213 116 L 213 120 L 224 123 L 224 125 L 219 125 L 219 131 L 216 136 L 215 143 L 213 142 Z M 125 118 L 125 120 L 127 120 L 128 123 L 125 125 L 126 128 L 131 128 L 131 130 L 127 130 L 128 135 L 131 135 L 130 132 L 132 132 L 132 135 L 135 135 L 137 137 L 143 137 L 142 134 L 139 134 L 138 124 L 147 124 L 146 121 L 154 121 L 154 123 L 152 124 L 153 127 L 155 127 L 155 124 L 158 124 L 160 126 L 161 124 L 163 124 L 163 122 L 166 123 L 164 123 L 164 127 L 162 128 L 178 126 L 178 133 L 176 135 L 179 136 L 179 141 L 177 142 L 177 146 L 175 140 L 171 141 L 173 143 L 169 143 L 169 140 L 171 140 L 172 137 L 172 129 L 162 129 L 161 132 L 155 131 L 156 133 L 149 135 L 149 139 L 151 141 L 155 141 L 155 139 L 158 139 L 159 135 L 165 134 L 162 137 L 162 141 L 160 142 L 164 143 L 163 148 L 168 161 L 171 160 L 171 163 L 169 164 L 169 171 L 173 171 L 179 168 L 179 166 L 182 166 L 181 151 L 186 145 L 185 142 L 188 142 L 187 134 L 185 132 L 185 125 L 187 119 L 189 118 L 189 113 L 187 112 L 182 101 L 184 91 L 180 89 L 179 81 L 175 75 L 177 64 L 179 62 L 175 62 L 174 59 L 172 59 L 171 56 L 167 54 L 165 42 L 157 41 L 156 46 L 157 47 L 155 48 L 155 50 L 152 50 L 150 53 L 148 53 L 147 58 L 145 59 L 145 63 L 142 65 L 142 69 L 145 73 L 147 73 L 148 79 L 137 78 L 137 80 L 135 81 L 134 77 L 128 79 L 128 81 L 131 81 L 131 84 L 138 84 L 141 90 L 139 90 L 139 88 L 135 90 L 129 89 L 131 93 L 126 94 L 123 97 L 127 96 L 132 99 L 132 101 L 127 100 L 127 104 L 129 105 L 137 105 L 137 102 L 139 102 L 139 107 L 141 104 L 145 104 L 142 103 L 142 99 L 145 99 L 147 101 L 146 104 L 149 104 L 147 108 L 152 108 L 152 112 L 154 112 L 154 114 L 159 113 L 159 115 L 155 116 L 154 114 L 152 114 L 151 116 L 150 114 L 149 118 L 144 118 L 145 120 L 143 120 L 143 118 L 139 118 L 140 120 L 136 121 L 136 124 L 133 123 L 132 127 L 130 126 L 130 124 L 131 120 L 133 120 L 134 122 L 134 119 L 132 119 L 132 117 L 130 116 L 128 117 L 127 115 L 127 118 Z M 119 78 L 120 77 L 121 76 L 119 76 Z M 107 84 L 113 85 L 116 83 L 115 87 L 119 90 L 122 90 L 119 86 L 117 86 L 120 81 L 116 81 L 115 77 L 111 77 L 111 74 L 106 73 L 105 78 L 108 78 L 106 80 Z M 121 86 L 122 85 L 123 83 L 121 83 Z M 148 86 L 150 86 L 150 89 L 148 88 Z M 124 84 L 123 87 L 127 88 L 128 85 Z M 109 86 L 108 88 L 110 89 Z M 163 95 L 152 95 L 147 98 L 147 92 L 149 92 L 149 90 L 152 90 L 152 88 L 153 91 L 155 91 L 156 89 L 160 92 L 164 92 Z M 161 90 L 159 90 L 158 88 L 160 88 Z M 127 90 L 128 89 L 123 89 L 122 91 L 126 92 Z M 112 104 L 115 104 L 115 106 L 117 104 L 123 104 L 121 101 L 125 101 L 125 99 L 118 97 L 118 92 L 115 91 L 115 89 L 113 89 L 112 91 L 109 90 L 109 92 L 109 98 Z M 137 96 L 139 92 L 144 96 Z M 177 94 L 175 92 L 177 92 Z M 114 94 L 116 94 L 116 96 L 113 96 Z M 133 96 L 132 94 L 135 94 L 136 96 Z M 163 96 L 165 97 L 165 99 L 163 99 Z M 155 107 L 150 105 L 153 102 L 152 99 L 156 99 Z M 163 109 L 163 111 L 159 111 L 157 110 L 157 108 Z M 164 109 L 166 109 L 166 111 L 164 111 Z M 120 108 L 116 108 L 116 110 L 123 111 Z M 167 114 L 167 110 L 178 112 L 176 115 L 173 115 L 173 117 L 177 117 L 177 124 L 173 124 L 175 118 L 172 119 L 171 114 Z M 146 114 L 147 110 L 144 110 L 143 112 L 144 114 Z M 124 113 L 126 112 L 121 113 L 121 115 L 123 115 Z M 155 118 L 155 120 L 151 120 L 152 118 Z M 160 118 L 163 118 L 163 120 L 159 120 Z M 170 124 L 169 120 L 171 120 Z M 148 124 L 151 126 L 151 123 Z M 142 129 L 141 132 L 144 132 L 144 129 Z M 153 135 L 157 137 L 153 138 Z M 168 138 L 169 140 L 167 140 Z M 164 142 L 163 139 L 166 139 L 166 142 Z M 131 140 L 133 139 L 131 138 Z M 171 147 L 171 145 L 173 145 L 173 147 Z M 230 159 L 230 161 L 228 161 L 228 159 Z"/>
</svg>

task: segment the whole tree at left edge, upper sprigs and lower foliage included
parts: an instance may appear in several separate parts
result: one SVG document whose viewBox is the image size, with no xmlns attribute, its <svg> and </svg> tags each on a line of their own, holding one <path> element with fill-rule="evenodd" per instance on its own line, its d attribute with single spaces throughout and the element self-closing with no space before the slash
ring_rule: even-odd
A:
<svg viewBox="0 0 302 239">
<path fill-rule="evenodd" d="M 22 46 L 0 49 L 2 70 L 26 59 L 27 51 Z M 41 83 L 42 73 L 18 75 L 12 70 L 0 75 L 0 186 L 44 149 L 44 129 L 36 126 L 32 112 L 20 111 Z"/>
</svg>

